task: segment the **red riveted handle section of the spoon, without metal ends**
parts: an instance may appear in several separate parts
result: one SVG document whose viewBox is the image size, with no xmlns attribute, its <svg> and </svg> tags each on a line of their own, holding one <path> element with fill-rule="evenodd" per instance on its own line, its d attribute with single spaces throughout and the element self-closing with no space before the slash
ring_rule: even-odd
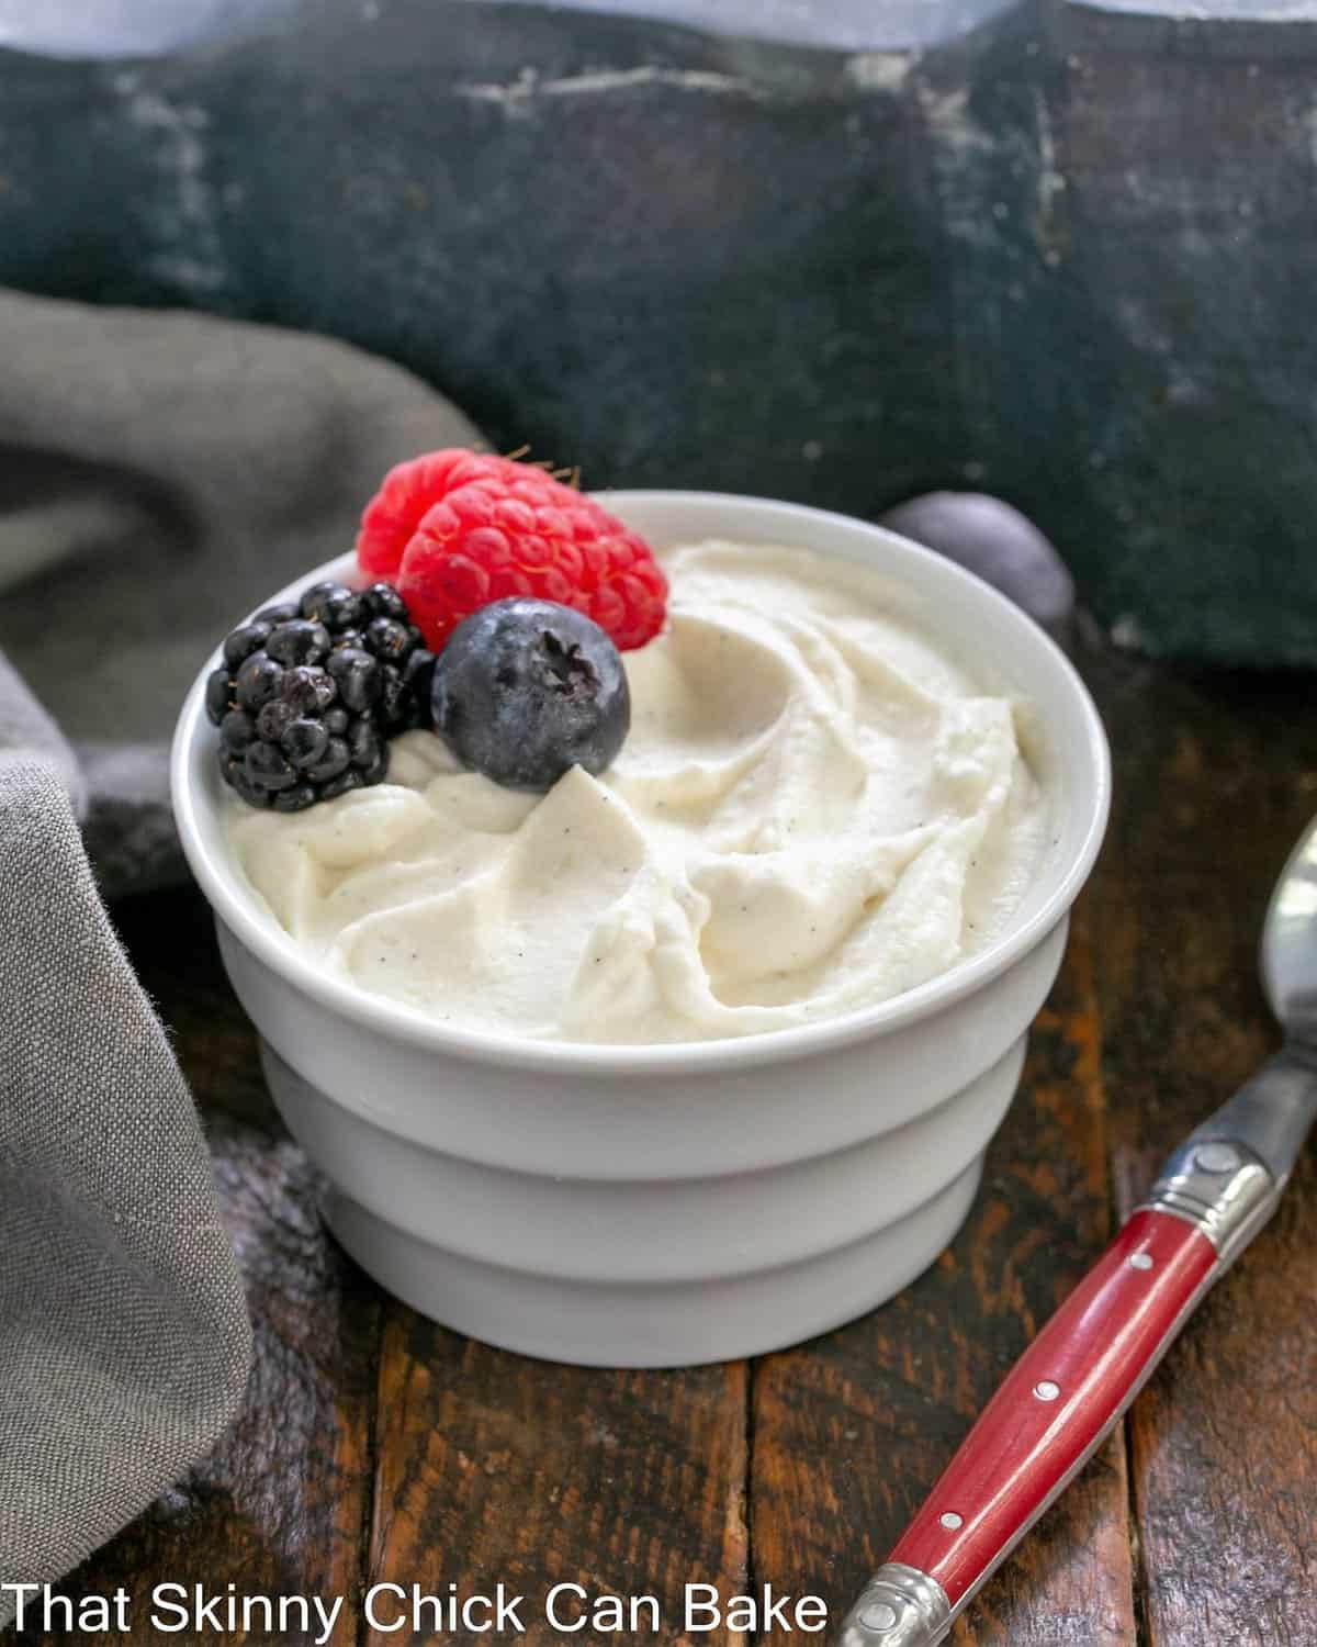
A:
<svg viewBox="0 0 1317 1647">
<path fill-rule="evenodd" d="M 1050 1318 L 983 1410 L 887 1558 L 955 1604 L 1082 1467 L 1213 1280 L 1182 1217 L 1142 1209 Z"/>
</svg>

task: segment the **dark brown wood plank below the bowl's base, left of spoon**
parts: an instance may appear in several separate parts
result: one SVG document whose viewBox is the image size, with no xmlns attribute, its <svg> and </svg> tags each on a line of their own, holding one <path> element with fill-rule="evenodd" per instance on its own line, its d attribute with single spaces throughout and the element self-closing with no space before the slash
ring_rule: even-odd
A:
<svg viewBox="0 0 1317 1647">
<path fill-rule="evenodd" d="M 390 1304 L 372 1583 L 440 1594 L 456 1583 L 458 1594 L 471 1594 L 502 1579 L 527 1598 L 528 1644 L 607 1639 L 589 1629 L 556 1634 L 543 1616 L 553 1584 L 654 1594 L 658 1639 L 677 1640 L 683 1584 L 744 1589 L 746 1379 L 744 1362 L 686 1372 L 556 1367 Z M 367 1635 L 370 1647 L 393 1640 Z"/>
</svg>

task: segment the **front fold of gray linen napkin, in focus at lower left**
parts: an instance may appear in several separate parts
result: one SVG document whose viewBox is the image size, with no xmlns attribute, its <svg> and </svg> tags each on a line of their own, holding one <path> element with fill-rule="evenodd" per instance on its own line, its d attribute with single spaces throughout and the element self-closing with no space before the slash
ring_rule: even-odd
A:
<svg viewBox="0 0 1317 1647">
<path fill-rule="evenodd" d="M 58 1578 L 202 1454 L 250 1329 L 206 1145 L 0 674 L 0 1576 Z M 0 1599 L 0 1624 L 10 1604 Z"/>
</svg>

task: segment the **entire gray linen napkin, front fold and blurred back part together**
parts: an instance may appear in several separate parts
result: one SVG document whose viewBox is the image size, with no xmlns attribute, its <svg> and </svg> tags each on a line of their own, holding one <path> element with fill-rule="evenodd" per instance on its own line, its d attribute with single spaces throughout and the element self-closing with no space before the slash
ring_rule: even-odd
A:
<svg viewBox="0 0 1317 1647">
<path fill-rule="evenodd" d="M 84 838 L 104 891 L 181 873 L 165 753 L 204 654 L 351 545 L 392 461 L 474 432 L 385 362 L 201 316 L 0 293 L 0 1579 L 40 1583 L 209 1449 L 250 1357 Z"/>
</svg>

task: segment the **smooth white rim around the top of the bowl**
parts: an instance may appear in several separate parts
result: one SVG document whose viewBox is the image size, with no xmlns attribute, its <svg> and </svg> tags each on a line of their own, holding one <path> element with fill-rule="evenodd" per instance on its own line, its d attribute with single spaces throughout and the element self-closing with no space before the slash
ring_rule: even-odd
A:
<svg viewBox="0 0 1317 1647">
<path fill-rule="evenodd" d="M 198 827 L 199 810 L 209 802 L 196 792 L 191 781 L 193 748 L 198 735 L 209 731 L 204 716 L 204 687 L 207 674 L 219 662 L 216 647 L 202 664 L 178 716 L 170 754 L 170 789 L 175 820 L 188 865 L 206 894 L 216 917 L 272 972 L 288 985 L 309 995 L 321 1006 L 349 1023 L 370 1029 L 385 1039 L 403 1041 L 423 1051 L 464 1057 L 481 1064 L 545 1071 L 558 1075 L 663 1075 L 691 1074 L 696 1071 L 733 1072 L 764 1064 L 792 1062 L 818 1052 L 830 1052 L 858 1041 L 889 1034 L 917 1024 L 922 1019 L 955 1006 L 965 996 L 988 985 L 1065 917 L 1080 888 L 1088 878 L 1101 847 L 1111 805 L 1111 754 L 1098 710 L 1057 642 L 1021 608 L 994 590 L 983 578 L 943 555 L 915 544 L 912 539 L 891 532 L 887 527 L 859 520 L 854 516 L 782 499 L 757 497 L 739 492 L 714 492 L 693 489 L 607 489 L 596 492 L 609 507 L 626 511 L 629 504 L 670 504 L 746 509 L 754 506 L 761 514 L 767 509 L 784 524 L 813 520 L 840 525 L 848 534 L 882 539 L 896 547 L 909 565 L 932 563 L 938 578 L 961 583 L 971 598 L 996 608 L 999 621 L 1014 631 L 1022 647 L 1032 649 L 1044 667 L 1052 672 L 1054 688 L 1070 698 L 1083 726 L 1083 756 L 1091 774 L 1091 804 L 1078 845 L 1068 863 L 1057 873 L 1057 881 L 1039 906 L 1021 922 L 1008 922 L 1006 929 L 984 949 L 950 967 L 925 983 L 873 1006 L 820 1018 L 807 1024 L 767 1029 L 746 1036 L 726 1036 L 710 1041 L 670 1043 L 593 1043 L 593 1041 L 540 1041 L 528 1036 L 496 1034 L 484 1029 L 466 1029 L 436 1023 L 417 1008 L 382 996 L 372 996 L 356 985 L 321 972 L 296 947 L 293 939 L 272 919 L 262 916 L 252 904 L 250 893 L 242 889 L 230 863 L 209 851 Z M 309 583 L 326 576 L 344 575 L 344 555 L 319 567 L 308 568 L 283 590 L 262 601 L 262 606 L 288 600 Z"/>
</svg>

